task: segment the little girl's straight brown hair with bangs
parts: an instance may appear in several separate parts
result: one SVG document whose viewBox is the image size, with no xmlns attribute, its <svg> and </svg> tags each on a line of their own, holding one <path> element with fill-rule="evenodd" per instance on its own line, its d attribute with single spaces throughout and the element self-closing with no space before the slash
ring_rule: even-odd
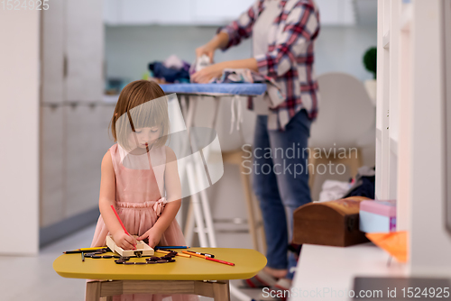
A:
<svg viewBox="0 0 451 301">
<path fill-rule="evenodd" d="M 154 142 L 154 146 L 161 147 L 168 140 L 170 131 L 166 95 L 153 81 L 133 81 L 124 87 L 115 105 L 115 114 L 110 123 L 113 138 L 125 150 L 132 150 L 129 137 L 134 129 L 154 126 L 161 129 L 160 138 Z"/>
</svg>

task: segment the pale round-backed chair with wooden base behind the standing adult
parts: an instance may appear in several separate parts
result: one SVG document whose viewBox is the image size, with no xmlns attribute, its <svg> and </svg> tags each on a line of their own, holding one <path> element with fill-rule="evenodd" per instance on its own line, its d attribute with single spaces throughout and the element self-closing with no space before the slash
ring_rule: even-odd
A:
<svg viewBox="0 0 451 301">
<path fill-rule="evenodd" d="M 312 190 L 317 173 L 323 174 L 329 163 L 335 164 L 336 169 L 337 164 L 344 164 L 351 177 L 357 174 L 363 162 L 361 148 L 368 143 L 364 138 L 374 127 L 375 119 L 375 108 L 357 78 L 326 73 L 318 77 L 318 87 L 318 118 L 311 125 L 308 141 L 308 184 Z M 342 169 L 336 171 L 341 173 Z"/>
</svg>

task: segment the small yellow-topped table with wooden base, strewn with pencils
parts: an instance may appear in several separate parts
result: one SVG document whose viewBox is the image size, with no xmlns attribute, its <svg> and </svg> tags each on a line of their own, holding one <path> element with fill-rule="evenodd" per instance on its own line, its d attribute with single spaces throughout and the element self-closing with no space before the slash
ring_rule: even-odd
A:
<svg viewBox="0 0 451 301">
<path fill-rule="evenodd" d="M 115 259 L 87 258 L 81 254 L 63 254 L 53 262 L 53 269 L 65 278 L 106 279 L 114 281 L 87 282 L 87 301 L 122 294 L 195 294 L 215 300 L 230 300 L 230 279 L 251 278 L 266 265 L 259 251 L 231 248 L 190 248 L 190 251 L 211 253 L 218 260 L 234 262 L 235 266 L 194 257 L 176 256 L 176 262 L 124 265 Z M 180 250 L 174 250 L 180 251 Z M 106 253 L 111 254 L 111 253 Z M 155 256 L 164 254 L 155 252 Z M 131 261 L 145 261 L 132 258 Z"/>
</svg>

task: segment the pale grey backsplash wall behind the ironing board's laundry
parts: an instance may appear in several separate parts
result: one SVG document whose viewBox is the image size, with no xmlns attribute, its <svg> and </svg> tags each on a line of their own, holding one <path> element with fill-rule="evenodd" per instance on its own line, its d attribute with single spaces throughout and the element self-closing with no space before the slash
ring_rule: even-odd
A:
<svg viewBox="0 0 451 301">
<path fill-rule="evenodd" d="M 107 77 L 139 79 L 154 60 L 171 54 L 192 63 L 197 47 L 209 41 L 217 27 L 209 26 L 106 26 L 105 52 Z M 246 59 L 251 42 L 226 52 L 216 51 L 215 60 Z"/>
</svg>

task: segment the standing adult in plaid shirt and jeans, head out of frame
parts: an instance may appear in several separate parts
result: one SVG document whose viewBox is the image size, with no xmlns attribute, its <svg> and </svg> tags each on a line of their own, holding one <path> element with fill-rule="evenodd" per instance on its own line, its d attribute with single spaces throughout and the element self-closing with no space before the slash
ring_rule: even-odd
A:
<svg viewBox="0 0 451 301">
<path fill-rule="evenodd" d="M 193 74 L 192 80 L 207 83 L 225 68 L 249 68 L 273 78 L 282 92 L 279 100 L 265 95 L 250 104 L 257 114 L 253 190 L 262 209 L 268 247 L 268 264 L 247 280 L 251 287 L 288 289 L 293 278 L 296 259 L 292 253 L 287 256 L 292 215 L 311 201 L 306 149 L 310 123 L 318 112 L 313 72 L 318 32 L 319 14 L 313 0 L 257 0 L 196 50 L 198 57 L 207 54 L 213 61 L 216 49 L 226 50 L 253 36 L 253 58 L 213 64 Z"/>
</svg>

